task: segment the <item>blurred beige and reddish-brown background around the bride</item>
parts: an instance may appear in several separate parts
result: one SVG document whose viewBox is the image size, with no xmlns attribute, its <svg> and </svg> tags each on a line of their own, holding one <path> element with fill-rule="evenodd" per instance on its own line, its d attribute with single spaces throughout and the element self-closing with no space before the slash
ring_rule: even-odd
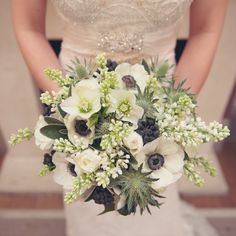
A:
<svg viewBox="0 0 236 236">
<path fill-rule="evenodd" d="M 54 235 L 55 226 L 57 235 L 65 235 L 62 191 L 50 177 L 38 177 L 42 153 L 30 142 L 14 149 L 8 148 L 4 155 L 4 140 L 6 143 L 10 134 L 19 127 L 33 128 L 40 113 L 38 92 L 14 37 L 9 2 L 0 2 L 0 235 L 14 236 L 16 233 L 19 235 L 19 232 L 25 236 L 51 235 L 50 229 L 53 228 Z M 222 121 L 232 96 L 236 76 L 235 13 L 236 1 L 229 0 L 214 64 L 198 97 L 199 112 L 206 121 Z M 47 16 L 48 38 L 60 39 L 63 23 L 50 4 Z M 179 37 L 187 36 L 186 16 Z M 235 103 L 231 104 L 233 106 Z M 225 122 L 229 123 L 230 118 L 228 116 Z M 207 145 L 202 148 L 203 153 L 217 165 L 219 172 L 216 178 L 206 179 L 206 187 L 197 189 L 186 181 L 179 184 L 183 199 L 199 207 L 199 211 L 204 212 L 224 236 L 236 235 L 236 211 L 232 209 L 236 206 L 236 175 L 227 172 L 234 172 L 236 168 L 236 162 L 233 161 L 235 152 L 233 149 L 230 153 L 224 151 L 225 147 L 231 150 L 232 143 L 231 146 L 218 145 L 215 148 Z M 15 227 L 12 228 L 12 225 Z M 14 228 L 17 230 L 14 231 Z"/>
</svg>

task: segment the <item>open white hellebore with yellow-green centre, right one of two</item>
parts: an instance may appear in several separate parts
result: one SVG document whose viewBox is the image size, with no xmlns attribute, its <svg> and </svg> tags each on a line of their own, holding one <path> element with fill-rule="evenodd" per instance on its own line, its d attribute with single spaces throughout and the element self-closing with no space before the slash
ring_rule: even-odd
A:
<svg viewBox="0 0 236 236">
<path fill-rule="evenodd" d="M 110 94 L 108 112 L 116 112 L 119 119 L 137 125 L 144 110 L 136 104 L 136 97 L 133 93 L 126 90 L 113 90 Z"/>
</svg>

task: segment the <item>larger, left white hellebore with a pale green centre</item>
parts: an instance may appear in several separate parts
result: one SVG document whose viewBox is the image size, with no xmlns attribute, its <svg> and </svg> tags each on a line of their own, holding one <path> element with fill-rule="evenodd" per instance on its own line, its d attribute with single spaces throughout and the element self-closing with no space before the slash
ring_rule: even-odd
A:
<svg viewBox="0 0 236 236">
<path fill-rule="evenodd" d="M 80 81 L 72 88 L 71 97 L 61 104 L 62 110 L 82 119 L 89 119 L 101 109 L 99 85 L 96 79 Z"/>
</svg>

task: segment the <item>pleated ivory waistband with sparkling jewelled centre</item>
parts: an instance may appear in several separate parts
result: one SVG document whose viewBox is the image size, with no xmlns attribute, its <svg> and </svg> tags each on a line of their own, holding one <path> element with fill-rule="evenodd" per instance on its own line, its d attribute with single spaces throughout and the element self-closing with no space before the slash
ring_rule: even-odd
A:
<svg viewBox="0 0 236 236">
<path fill-rule="evenodd" d="M 67 60 L 73 57 L 94 58 L 97 54 L 106 53 L 107 57 L 118 62 L 136 63 L 142 58 L 154 56 L 174 62 L 175 44 L 176 34 L 173 31 L 146 34 L 118 31 L 97 33 L 69 27 L 63 37 L 61 57 Z"/>
</svg>

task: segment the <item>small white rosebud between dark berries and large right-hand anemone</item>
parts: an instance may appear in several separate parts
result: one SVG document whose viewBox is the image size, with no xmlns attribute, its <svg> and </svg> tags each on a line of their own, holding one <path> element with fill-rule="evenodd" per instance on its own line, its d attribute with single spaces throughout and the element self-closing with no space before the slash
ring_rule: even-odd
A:
<svg viewBox="0 0 236 236">
<path fill-rule="evenodd" d="M 143 148 L 143 138 L 135 131 L 125 137 L 123 142 L 134 156 Z"/>
</svg>

